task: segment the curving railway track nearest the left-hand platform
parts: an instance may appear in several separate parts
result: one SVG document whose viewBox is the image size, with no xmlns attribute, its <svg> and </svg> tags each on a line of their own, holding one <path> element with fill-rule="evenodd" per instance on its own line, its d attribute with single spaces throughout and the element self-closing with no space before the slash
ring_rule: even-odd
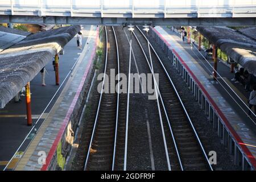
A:
<svg viewBox="0 0 256 182">
<path fill-rule="evenodd" d="M 104 78 L 102 81 L 100 100 L 96 117 L 88 126 L 93 126 L 90 133 L 90 143 L 87 150 L 84 170 L 111 170 L 114 166 L 115 144 L 117 142 L 119 94 L 105 93 L 104 88 L 115 88 L 117 81 L 110 82 L 110 70 L 119 73 L 118 44 L 113 27 L 105 27 L 106 59 Z M 110 90 L 110 89 L 109 89 Z"/>
</svg>

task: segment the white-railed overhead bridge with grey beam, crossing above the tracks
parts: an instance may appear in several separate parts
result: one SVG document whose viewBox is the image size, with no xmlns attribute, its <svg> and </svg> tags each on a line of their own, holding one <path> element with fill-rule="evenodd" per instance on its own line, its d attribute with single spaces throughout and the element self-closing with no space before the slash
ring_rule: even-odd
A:
<svg viewBox="0 0 256 182">
<path fill-rule="evenodd" d="M 256 0 L 1 0 L 0 23 L 256 26 Z"/>
</svg>

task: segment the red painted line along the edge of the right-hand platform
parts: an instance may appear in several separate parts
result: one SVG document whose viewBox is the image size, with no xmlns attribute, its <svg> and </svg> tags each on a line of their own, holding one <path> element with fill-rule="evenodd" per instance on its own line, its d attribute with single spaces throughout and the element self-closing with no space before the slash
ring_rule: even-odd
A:
<svg viewBox="0 0 256 182">
<path fill-rule="evenodd" d="M 160 38 L 164 41 L 164 43 L 167 44 L 167 46 L 171 47 L 170 43 L 167 42 L 166 39 L 163 38 L 163 36 L 157 31 L 155 30 L 155 28 L 152 28 L 156 34 L 158 34 L 158 36 L 160 36 Z M 217 106 L 216 102 L 214 102 L 214 100 L 212 99 L 212 97 L 210 97 L 209 93 L 207 92 L 207 90 L 205 90 L 204 86 L 201 84 L 201 82 L 197 79 L 197 77 L 194 75 L 194 73 L 191 71 L 191 69 L 189 69 L 188 65 L 185 63 L 185 61 L 180 57 L 180 55 L 175 51 L 175 49 L 171 48 L 172 52 L 174 52 L 174 54 L 179 58 L 179 60 L 181 61 L 181 63 L 184 65 L 184 67 L 187 69 L 187 71 L 191 74 L 191 76 L 193 77 L 193 79 L 196 81 L 197 85 L 200 87 L 200 89 L 204 92 L 205 96 L 208 98 L 208 100 L 210 101 L 210 104 L 212 104 L 212 106 L 214 107 L 214 109 L 217 111 L 218 115 L 221 117 L 222 121 L 225 123 L 226 127 L 228 127 L 230 133 L 232 133 L 233 137 L 237 140 L 237 143 L 240 145 L 240 147 L 242 148 L 243 152 L 245 152 L 247 158 L 250 160 L 252 166 L 256 169 L 256 160 L 253 156 L 253 154 L 251 154 L 250 150 L 246 147 L 246 145 L 242 144 L 243 141 L 240 138 L 240 136 L 237 134 L 237 132 L 233 129 L 233 127 L 230 125 L 228 119 L 225 117 L 224 113 L 222 113 L 222 111 L 220 110 L 220 108 Z"/>
</svg>

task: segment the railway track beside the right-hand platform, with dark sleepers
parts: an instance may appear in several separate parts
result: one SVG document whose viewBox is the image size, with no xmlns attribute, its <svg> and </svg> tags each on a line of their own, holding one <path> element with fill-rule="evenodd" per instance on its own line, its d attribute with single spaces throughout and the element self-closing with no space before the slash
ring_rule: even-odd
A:
<svg viewBox="0 0 256 182">
<path fill-rule="evenodd" d="M 147 38 L 138 27 L 134 30 L 134 36 L 141 44 L 147 61 L 152 60 L 152 65 L 149 62 L 147 63 L 151 72 L 159 73 L 158 90 L 162 103 L 161 114 L 163 118 L 166 118 L 163 126 L 167 137 L 168 155 L 172 169 L 212 170 L 203 144 L 200 142 L 187 110 L 162 61 L 151 44 L 150 51 L 148 51 Z M 170 142 L 170 139 L 172 139 L 172 142 Z M 176 158 L 174 158 L 174 153 L 176 153 Z"/>
</svg>

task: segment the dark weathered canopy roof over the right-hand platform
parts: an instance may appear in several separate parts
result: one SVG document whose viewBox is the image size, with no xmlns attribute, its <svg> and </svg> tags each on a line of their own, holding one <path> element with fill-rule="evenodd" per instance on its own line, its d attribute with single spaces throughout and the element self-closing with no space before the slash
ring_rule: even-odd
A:
<svg viewBox="0 0 256 182">
<path fill-rule="evenodd" d="M 232 60 L 256 76 L 255 27 L 235 31 L 227 27 L 197 27 L 197 30 L 225 52 Z"/>
</svg>

